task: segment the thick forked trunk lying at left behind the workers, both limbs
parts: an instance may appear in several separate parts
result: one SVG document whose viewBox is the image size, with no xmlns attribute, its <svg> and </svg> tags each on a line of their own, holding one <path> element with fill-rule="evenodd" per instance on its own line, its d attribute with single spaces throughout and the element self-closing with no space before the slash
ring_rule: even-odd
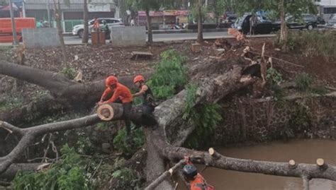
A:
<svg viewBox="0 0 336 190">
<path fill-rule="evenodd" d="M 53 97 L 36 100 L 17 109 L 1 111 L 0 120 L 13 124 L 28 123 L 31 119 L 43 117 L 48 113 L 59 112 L 60 109 L 93 107 L 99 101 L 105 89 L 104 80 L 77 83 L 60 73 L 12 64 L 4 60 L 0 60 L 0 74 L 40 85 L 53 95 Z M 149 77 L 150 73 L 144 73 L 144 75 Z M 118 80 L 128 88 L 135 88 L 133 76 L 120 76 Z"/>
</svg>

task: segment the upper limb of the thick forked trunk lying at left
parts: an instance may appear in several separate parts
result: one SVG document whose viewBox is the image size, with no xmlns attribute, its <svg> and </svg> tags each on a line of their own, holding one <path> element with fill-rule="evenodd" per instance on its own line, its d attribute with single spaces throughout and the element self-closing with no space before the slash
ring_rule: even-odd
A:
<svg viewBox="0 0 336 190">
<path fill-rule="evenodd" d="M 18 78 L 28 83 L 40 85 L 50 90 L 55 97 L 68 100 L 67 102 L 92 104 L 99 100 L 105 88 L 104 80 L 91 83 L 77 83 L 66 78 L 60 73 L 35 69 L 30 66 L 11 64 L 0 60 L 0 74 Z M 150 73 L 144 73 L 150 76 Z M 118 80 L 129 88 L 134 88 L 133 76 L 119 76 Z"/>
</svg>

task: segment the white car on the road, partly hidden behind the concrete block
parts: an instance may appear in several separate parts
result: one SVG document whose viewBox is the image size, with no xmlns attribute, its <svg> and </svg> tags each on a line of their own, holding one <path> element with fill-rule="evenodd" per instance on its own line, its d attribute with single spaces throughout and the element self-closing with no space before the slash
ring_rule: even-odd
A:
<svg viewBox="0 0 336 190">
<path fill-rule="evenodd" d="M 101 21 L 106 20 L 108 27 L 116 27 L 116 26 L 123 26 L 124 23 L 121 18 L 97 18 L 99 21 L 99 25 L 103 25 Z M 89 21 L 89 35 L 91 35 L 91 29 L 94 25 L 94 19 Z M 84 32 L 84 25 L 75 25 L 72 28 L 72 35 L 78 35 L 80 38 L 83 37 Z"/>
</svg>

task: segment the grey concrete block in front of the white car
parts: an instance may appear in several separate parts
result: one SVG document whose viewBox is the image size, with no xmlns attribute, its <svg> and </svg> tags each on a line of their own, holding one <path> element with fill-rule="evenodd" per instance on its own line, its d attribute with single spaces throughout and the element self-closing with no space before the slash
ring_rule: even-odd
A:
<svg viewBox="0 0 336 190">
<path fill-rule="evenodd" d="M 141 46 L 146 44 L 145 26 L 111 27 L 113 46 Z"/>
</svg>

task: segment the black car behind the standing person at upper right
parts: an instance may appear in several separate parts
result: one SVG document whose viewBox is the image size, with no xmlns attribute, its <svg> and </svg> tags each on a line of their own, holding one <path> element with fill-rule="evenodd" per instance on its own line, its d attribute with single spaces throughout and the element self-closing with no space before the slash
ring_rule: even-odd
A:
<svg viewBox="0 0 336 190">
<path fill-rule="evenodd" d="M 245 35 L 250 32 L 250 18 L 252 14 L 245 14 L 241 18 L 238 18 L 233 24 L 233 28 L 241 30 Z M 255 34 L 269 34 L 273 29 L 271 20 L 263 16 L 257 16 L 257 25 L 255 27 Z"/>
</svg>

